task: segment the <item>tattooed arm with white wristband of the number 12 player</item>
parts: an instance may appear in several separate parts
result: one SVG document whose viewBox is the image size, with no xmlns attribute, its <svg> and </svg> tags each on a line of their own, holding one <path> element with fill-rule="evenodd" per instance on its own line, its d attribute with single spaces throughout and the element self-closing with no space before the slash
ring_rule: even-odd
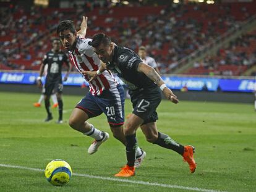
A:
<svg viewBox="0 0 256 192">
<path fill-rule="evenodd" d="M 177 96 L 171 91 L 165 84 L 160 75 L 153 69 L 153 67 L 150 67 L 146 64 L 140 63 L 138 65 L 137 71 L 140 73 L 144 73 L 147 75 L 148 78 L 150 78 L 152 81 L 156 83 L 163 91 L 164 96 L 166 99 L 172 101 L 173 103 L 179 102 L 179 99 L 177 99 Z"/>
</svg>

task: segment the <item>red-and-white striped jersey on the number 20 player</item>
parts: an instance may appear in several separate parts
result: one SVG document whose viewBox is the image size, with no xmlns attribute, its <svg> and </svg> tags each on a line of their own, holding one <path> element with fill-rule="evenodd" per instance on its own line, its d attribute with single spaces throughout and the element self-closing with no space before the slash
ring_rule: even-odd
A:
<svg viewBox="0 0 256 192">
<path fill-rule="evenodd" d="M 69 59 L 75 68 L 82 74 L 82 70 L 96 71 L 100 67 L 100 59 L 93 51 L 92 46 L 88 45 L 88 42 L 92 41 L 87 38 L 78 37 L 75 43 L 73 51 L 69 51 Z M 83 75 L 86 81 L 90 80 L 90 77 Z M 93 95 L 100 95 L 103 90 L 116 88 L 118 81 L 114 78 L 113 74 L 108 70 L 105 70 L 101 75 L 98 75 L 95 80 L 90 84 L 90 92 Z"/>
</svg>

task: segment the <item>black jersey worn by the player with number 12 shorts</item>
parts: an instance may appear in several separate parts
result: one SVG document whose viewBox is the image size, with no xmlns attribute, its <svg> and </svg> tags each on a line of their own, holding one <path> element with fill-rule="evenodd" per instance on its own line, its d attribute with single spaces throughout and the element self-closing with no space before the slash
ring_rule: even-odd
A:
<svg viewBox="0 0 256 192">
<path fill-rule="evenodd" d="M 127 85 L 129 90 L 141 88 L 145 90 L 157 86 L 144 73 L 137 71 L 140 63 L 142 60 L 134 51 L 115 45 L 113 60 L 106 65 Z"/>
</svg>

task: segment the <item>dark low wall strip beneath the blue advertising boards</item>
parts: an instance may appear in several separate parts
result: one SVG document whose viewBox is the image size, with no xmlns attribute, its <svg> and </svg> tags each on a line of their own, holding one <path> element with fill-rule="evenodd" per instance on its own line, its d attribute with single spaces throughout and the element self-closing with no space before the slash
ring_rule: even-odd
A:
<svg viewBox="0 0 256 192">
<path fill-rule="evenodd" d="M 14 93 L 38 93 L 40 90 L 35 85 L 20 85 L 20 84 L 0 84 L 0 91 L 9 91 Z M 85 96 L 88 92 L 88 87 L 80 88 L 77 86 L 64 86 L 63 94 Z M 1 93 L 0 93 L 1 94 Z M 242 102 L 254 103 L 253 93 L 234 93 L 234 92 L 213 92 L 213 91 L 177 91 L 174 94 L 181 101 L 214 101 L 214 102 Z"/>
</svg>

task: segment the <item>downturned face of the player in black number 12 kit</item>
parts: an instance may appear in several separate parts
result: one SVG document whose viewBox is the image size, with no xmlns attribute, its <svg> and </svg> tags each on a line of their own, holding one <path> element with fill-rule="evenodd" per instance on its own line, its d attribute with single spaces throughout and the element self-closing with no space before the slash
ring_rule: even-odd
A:
<svg viewBox="0 0 256 192">
<path fill-rule="evenodd" d="M 114 45 L 109 44 L 104 46 L 102 43 L 97 48 L 93 48 L 93 51 L 98 55 L 99 59 L 105 63 L 112 60 Z"/>
</svg>

